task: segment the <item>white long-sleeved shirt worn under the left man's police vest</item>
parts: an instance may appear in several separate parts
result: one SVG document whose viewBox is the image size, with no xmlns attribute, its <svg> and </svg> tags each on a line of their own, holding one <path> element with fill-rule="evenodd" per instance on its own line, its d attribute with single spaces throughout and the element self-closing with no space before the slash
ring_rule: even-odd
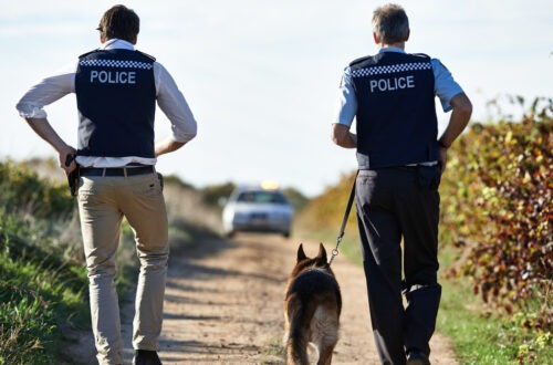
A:
<svg viewBox="0 0 553 365">
<path fill-rule="evenodd" d="M 124 49 L 134 50 L 127 41 L 112 39 L 105 42 L 103 50 Z M 44 106 L 75 92 L 75 73 L 79 60 L 63 67 L 61 71 L 33 85 L 15 106 L 24 118 L 46 118 Z M 197 123 L 192 112 L 179 91 L 169 72 L 159 63 L 154 62 L 154 80 L 156 85 L 157 105 L 171 123 L 171 137 L 176 142 L 187 143 L 196 136 Z M 126 157 L 96 157 L 77 156 L 76 161 L 84 167 L 121 167 L 131 163 L 155 165 L 156 158 L 138 156 Z"/>
</svg>

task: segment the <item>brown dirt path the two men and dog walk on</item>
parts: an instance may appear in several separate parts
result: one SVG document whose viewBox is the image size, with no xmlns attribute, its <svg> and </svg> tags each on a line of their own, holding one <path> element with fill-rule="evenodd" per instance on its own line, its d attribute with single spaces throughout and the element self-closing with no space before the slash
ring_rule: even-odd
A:
<svg viewBox="0 0 553 365">
<path fill-rule="evenodd" d="M 283 290 L 298 244 L 278 236 L 240 234 L 174 250 L 159 352 L 164 364 L 283 364 Z M 316 254 L 317 244 L 304 242 L 307 255 Z M 344 302 L 333 363 L 378 364 L 363 270 L 343 255 L 333 270 Z M 129 364 L 132 306 L 125 312 Z M 447 338 L 435 335 L 431 347 L 432 364 L 456 364 Z"/>
</svg>

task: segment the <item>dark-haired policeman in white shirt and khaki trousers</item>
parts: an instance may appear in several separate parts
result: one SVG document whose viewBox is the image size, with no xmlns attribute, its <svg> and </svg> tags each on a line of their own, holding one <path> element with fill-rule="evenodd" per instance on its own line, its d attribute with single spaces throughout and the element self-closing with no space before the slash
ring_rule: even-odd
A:
<svg viewBox="0 0 553 365">
<path fill-rule="evenodd" d="M 100 364 L 122 364 L 123 342 L 114 277 L 125 217 L 140 262 L 136 293 L 134 364 L 160 364 L 157 355 L 167 274 L 168 221 L 157 157 L 196 136 L 197 124 L 167 70 L 136 51 L 138 15 L 124 6 L 100 21 L 102 46 L 33 85 L 17 108 L 59 154 L 67 174 L 79 168 L 79 209 L 90 279 L 92 326 Z M 67 145 L 43 107 L 75 93 L 79 145 Z M 173 134 L 155 143 L 156 103 Z M 74 161 L 71 157 L 76 155 Z M 70 163 L 66 165 L 66 161 Z"/>
</svg>

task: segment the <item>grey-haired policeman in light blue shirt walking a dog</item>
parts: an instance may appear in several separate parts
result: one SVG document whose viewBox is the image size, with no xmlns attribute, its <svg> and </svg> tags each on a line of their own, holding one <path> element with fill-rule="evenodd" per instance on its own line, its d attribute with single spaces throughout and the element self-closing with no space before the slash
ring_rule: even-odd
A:
<svg viewBox="0 0 553 365">
<path fill-rule="evenodd" d="M 472 105 L 438 60 L 404 51 L 409 22 L 401 7 L 375 10 L 373 36 L 379 52 L 344 71 L 332 138 L 357 149 L 357 220 L 380 361 L 429 364 L 441 295 L 438 187 Z M 451 111 L 439 139 L 436 96 Z"/>
</svg>

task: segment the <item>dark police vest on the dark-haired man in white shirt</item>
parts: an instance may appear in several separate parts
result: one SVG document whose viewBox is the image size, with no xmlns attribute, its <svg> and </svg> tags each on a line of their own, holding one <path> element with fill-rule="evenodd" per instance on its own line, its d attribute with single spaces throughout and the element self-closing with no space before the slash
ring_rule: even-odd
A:
<svg viewBox="0 0 553 365">
<path fill-rule="evenodd" d="M 79 58 L 79 155 L 155 157 L 154 62 L 149 55 L 121 49 Z"/>
</svg>

